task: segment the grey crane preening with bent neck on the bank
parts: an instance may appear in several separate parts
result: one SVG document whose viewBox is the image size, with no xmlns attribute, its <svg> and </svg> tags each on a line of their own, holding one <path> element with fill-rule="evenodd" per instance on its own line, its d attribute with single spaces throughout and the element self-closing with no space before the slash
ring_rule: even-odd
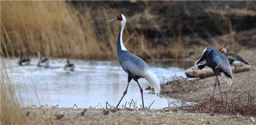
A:
<svg viewBox="0 0 256 125">
<path fill-rule="evenodd" d="M 203 60 L 206 60 L 206 62 L 198 65 L 198 63 L 202 62 Z M 205 48 L 200 59 L 196 61 L 195 67 L 198 67 L 199 69 L 203 69 L 205 66 L 210 67 L 215 73 L 216 81 L 214 85 L 214 92 L 215 92 L 216 84 L 218 82 L 219 91 L 221 95 L 220 81 L 218 79 L 218 75 L 221 72 L 223 72 L 224 76 L 228 79 L 228 85 L 230 87 L 229 91 L 231 90 L 233 74 L 232 74 L 232 70 L 229 65 L 228 59 L 222 53 L 220 53 L 217 49 L 213 47 Z M 214 96 L 214 92 L 212 93 L 212 96 Z M 221 95 L 221 100 L 223 101 L 222 95 Z"/>
</svg>

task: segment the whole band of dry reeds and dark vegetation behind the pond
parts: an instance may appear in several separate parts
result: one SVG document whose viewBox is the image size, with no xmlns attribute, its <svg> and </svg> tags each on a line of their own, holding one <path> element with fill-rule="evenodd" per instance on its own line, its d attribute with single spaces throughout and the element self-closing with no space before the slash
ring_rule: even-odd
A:
<svg viewBox="0 0 256 125">
<path fill-rule="evenodd" d="M 206 5 L 211 6 L 212 3 Z M 204 3 L 198 2 L 198 4 L 205 6 Z M 83 6 L 74 7 L 71 2 L 64 1 L 1 1 L 1 10 L 4 10 L 1 11 L 1 51 L 4 56 L 15 56 L 17 49 L 22 48 L 23 53 L 30 57 L 35 56 L 35 52 L 41 51 L 47 57 L 116 59 L 116 39 L 120 24 L 106 21 L 116 16 L 120 10 L 111 5 L 105 3 L 93 8 L 90 2 L 83 2 Z M 164 5 L 172 8 L 174 5 L 180 6 L 181 3 L 159 3 L 159 7 L 165 7 Z M 196 10 L 181 11 L 179 13 L 185 15 L 176 20 L 171 18 L 175 14 L 167 13 L 165 17 L 162 15 L 163 12 L 156 11 L 159 7 L 156 7 L 154 2 L 137 2 L 136 7 L 139 7 L 140 11 L 125 11 L 127 25 L 123 41 L 131 52 L 144 59 L 180 59 L 191 55 L 196 55 L 193 57 L 196 58 L 200 55 L 200 50 L 208 45 L 217 48 L 226 46 L 237 52 L 241 48 L 255 46 L 251 34 L 242 37 L 238 35 L 237 27 L 233 28 L 234 24 L 230 18 L 230 16 L 242 18 L 247 15 L 253 18 L 255 11 L 252 10 L 222 9 L 223 7 L 201 10 L 203 14 L 208 14 L 203 16 L 209 18 L 205 21 L 211 21 L 210 29 L 218 29 L 211 33 L 204 27 L 197 28 L 186 24 L 187 20 L 182 19 L 193 19 L 191 13 L 195 13 Z M 169 12 L 168 9 L 164 11 Z M 199 18 L 200 22 L 200 17 L 195 18 Z M 198 20 L 194 20 L 196 24 Z M 201 25 L 202 22 L 200 27 Z M 220 35 L 216 35 L 217 32 Z M 202 34 L 207 39 L 203 38 Z M 221 35 L 225 37 L 219 39 Z M 244 37 L 246 38 L 241 41 L 240 39 Z"/>
</svg>

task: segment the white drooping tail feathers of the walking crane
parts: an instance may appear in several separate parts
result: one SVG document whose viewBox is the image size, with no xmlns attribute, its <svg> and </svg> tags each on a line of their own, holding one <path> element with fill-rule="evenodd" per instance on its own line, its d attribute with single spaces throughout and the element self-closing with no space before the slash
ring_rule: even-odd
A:
<svg viewBox="0 0 256 125">
<path fill-rule="evenodd" d="M 159 95 L 160 94 L 160 83 L 159 83 L 159 80 L 157 79 L 155 73 L 152 72 L 150 69 L 148 69 L 144 78 L 147 80 L 148 83 L 150 83 L 151 87 L 155 88 L 155 94 Z"/>
</svg>

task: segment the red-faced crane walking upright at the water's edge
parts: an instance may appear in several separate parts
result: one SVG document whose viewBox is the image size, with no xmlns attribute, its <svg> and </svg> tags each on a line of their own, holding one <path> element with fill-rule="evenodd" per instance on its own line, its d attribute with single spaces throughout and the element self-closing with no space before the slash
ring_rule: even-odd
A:
<svg viewBox="0 0 256 125">
<path fill-rule="evenodd" d="M 140 88 L 142 108 L 144 109 L 143 89 L 141 88 L 141 86 L 138 82 L 138 79 L 145 78 L 147 80 L 147 82 L 150 83 L 151 87 L 155 88 L 155 93 L 157 95 L 159 95 L 159 93 L 160 93 L 160 83 L 159 83 L 159 80 L 157 79 L 156 75 L 151 71 L 151 69 L 148 67 L 148 65 L 145 63 L 145 61 L 143 61 L 136 55 L 127 51 L 127 49 L 123 45 L 122 35 L 123 35 L 125 23 L 126 23 L 125 16 L 122 14 L 118 14 L 117 17 L 109 20 L 109 22 L 115 21 L 115 20 L 119 20 L 121 22 L 121 28 L 120 28 L 120 31 L 118 34 L 118 39 L 117 39 L 117 56 L 118 56 L 119 63 L 121 65 L 121 67 L 128 74 L 127 86 L 126 86 L 126 88 L 123 92 L 123 95 L 116 107 L 119 106 L 124 95 L 127 93 L 129 84 L 130 84 L 131 80 L 133 79 L 134 81 L 137 82 L 137 84 Z"/>
</svg>

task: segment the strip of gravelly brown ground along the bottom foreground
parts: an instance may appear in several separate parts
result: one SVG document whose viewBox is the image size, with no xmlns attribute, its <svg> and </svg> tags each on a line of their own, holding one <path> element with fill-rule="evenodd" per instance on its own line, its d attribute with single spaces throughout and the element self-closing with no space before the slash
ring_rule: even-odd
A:
<svg viewBox="0 0 256 125">
<path fill-rule="evenodd" d="M 84 111 L 86 110 L 86 111 Z M 255 117 L 166 110 L 24 109 L 32 124 L 253 124 Z"/>
</svg>

